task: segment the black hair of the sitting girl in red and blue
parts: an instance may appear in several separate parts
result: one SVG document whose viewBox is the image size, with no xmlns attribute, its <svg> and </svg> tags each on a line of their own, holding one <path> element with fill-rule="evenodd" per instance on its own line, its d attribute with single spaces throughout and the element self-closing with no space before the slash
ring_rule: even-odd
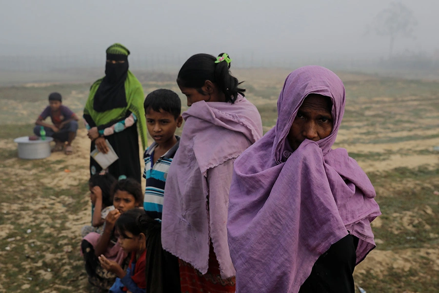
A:
<svg viewBox="0 0 439 293">
<path fill-rule="evenodd" d="M 151 227 L 157 225 L 160 225 L 160 223 L 150 218 L 143 209 L 129 209 L 117 219 L 115 228 L 123 238 L 129 238 L 125 233 L 126 231 L 134 236 L 143 233 L 148 237 Z"/>
</svg>

